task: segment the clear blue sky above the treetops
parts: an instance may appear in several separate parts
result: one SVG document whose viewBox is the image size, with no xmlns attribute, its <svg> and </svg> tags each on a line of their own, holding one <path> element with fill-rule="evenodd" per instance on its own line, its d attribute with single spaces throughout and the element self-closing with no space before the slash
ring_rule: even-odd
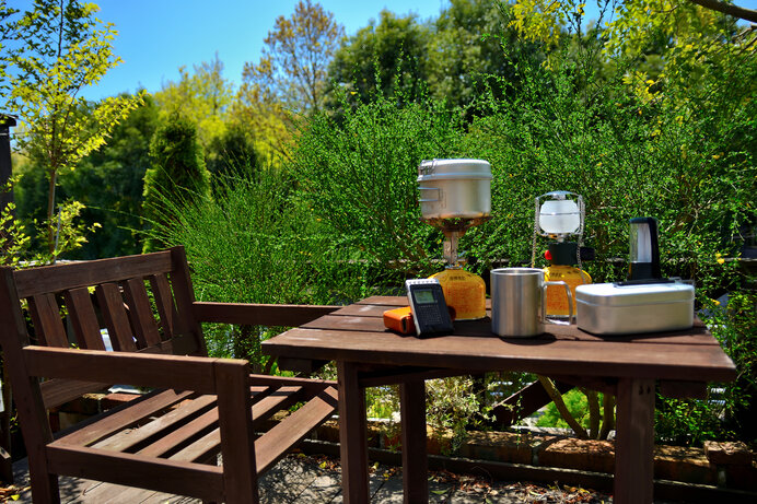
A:
<svg viewBox="0 0 757 504">
<path fill-rule="evenodd" d="M 218 51 L 224 77 L 238 83 L 246 61 L 257 62 L 264 39 L 279 15 L 290 16 L 299 0 L 94 0 L 98 17 L 115 24 L 115 52 L 124 62 L 84 91 L 90 99 L 144 87 L 160 91 L 178 79 L 178 68 L 210 61 Z M 420 20 L 436 17 L 449 0 L 314 0 L 345 26 L 348 35 L 366 26 L 383 9 L 415 13 Z M 9 0 L 25 8 L 30 0 Z M 586 1 L 587 17 L 596 15 Z M 757 0 L 736 0 L 757 9 Z"/>
</svg>

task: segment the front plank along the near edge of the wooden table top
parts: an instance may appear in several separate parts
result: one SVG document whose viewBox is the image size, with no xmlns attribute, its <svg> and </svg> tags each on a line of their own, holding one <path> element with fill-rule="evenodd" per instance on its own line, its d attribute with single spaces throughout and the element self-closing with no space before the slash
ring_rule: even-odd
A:
<svg viewBox="0 0 757 504">
<path fill-rule="evenodd" d="M 711 338 L 711 337 L 710 337 Z M 639 341 L 502 339 L 457 337 L 417 339 L 392 332 L 291 329 L 263 342 L 271 355 L 345 360 L 385 365 L 525 371 L 540 374 L 731 380 L 733 362 L 718 345 Z M 685 354 L 686 358 L 682 359 Z"/>
</svg>

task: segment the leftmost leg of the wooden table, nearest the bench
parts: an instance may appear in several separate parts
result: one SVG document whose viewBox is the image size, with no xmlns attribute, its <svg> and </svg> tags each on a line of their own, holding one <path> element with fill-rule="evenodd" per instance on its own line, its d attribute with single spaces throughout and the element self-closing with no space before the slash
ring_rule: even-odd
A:
<svg viewBox="0 0 757 504">
<path fill-rule="evenodd" d="M 368 424 L 365 389 L 358 382 L 351 362 L 337 362 L 339 386 L 339 455 L 341 487 L 346 504 L 370 502 L 368 490 Z"/>
</svg>

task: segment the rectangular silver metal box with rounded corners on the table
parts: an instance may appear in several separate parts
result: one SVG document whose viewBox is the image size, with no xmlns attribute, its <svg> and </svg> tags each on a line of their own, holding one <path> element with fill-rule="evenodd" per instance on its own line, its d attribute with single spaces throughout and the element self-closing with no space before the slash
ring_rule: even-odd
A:
<svg viewBox="0 0 757 504">
<path fill-rule="evenodd" d="M 688 329 L 694 325 L 694 286 L 685 283 L 575 288 L 575 321 L 595 335 Z"/>
</svg>

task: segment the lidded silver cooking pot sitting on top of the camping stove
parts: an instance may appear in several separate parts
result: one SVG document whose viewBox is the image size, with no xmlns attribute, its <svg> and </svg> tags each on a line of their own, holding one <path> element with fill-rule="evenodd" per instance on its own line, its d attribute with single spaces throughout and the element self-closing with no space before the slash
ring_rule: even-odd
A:
<svg viewBox="0 0 757 504">
<path fill-rule="evenodd" d="M 418 166 L 423 219 L 476 219 L 491 213 L 491 166 L 484 160 L 431 160 Z"/>
</svg>

